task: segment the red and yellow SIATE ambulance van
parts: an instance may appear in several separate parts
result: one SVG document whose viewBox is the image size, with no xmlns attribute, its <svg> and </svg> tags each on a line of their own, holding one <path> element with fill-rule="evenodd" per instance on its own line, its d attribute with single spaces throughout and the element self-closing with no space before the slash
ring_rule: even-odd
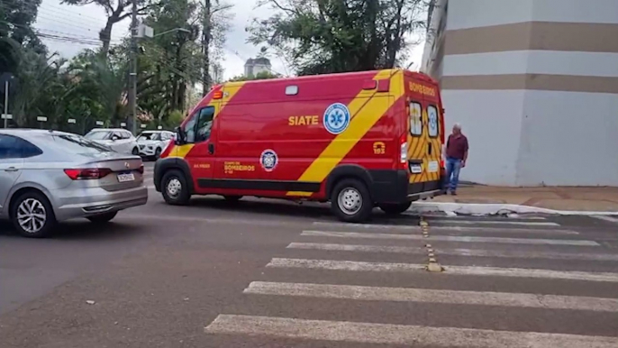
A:
<svg viewBox="0 0 618 348">
<path fill-rule="evenodd" d="M 440 195 L 438 84 L 402 69 L 229 82 L 177 128 L 155 164 L 166 202 L 192 195 L 330 201 L 341 220 L 400 214 Z"/>
</svg>

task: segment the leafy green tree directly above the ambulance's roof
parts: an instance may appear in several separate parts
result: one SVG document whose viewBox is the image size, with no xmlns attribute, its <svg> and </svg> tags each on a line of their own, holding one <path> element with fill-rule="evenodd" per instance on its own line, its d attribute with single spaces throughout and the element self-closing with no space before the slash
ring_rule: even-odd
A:
<svg viewBox="0 0 618 348">
<path fill-rule="evenodd" d="M 286 57 L 299 75 L 394 68 L 426 26 L 429 0 L 261 0 L 276 10 L 250 42 Z"/>
</svg>

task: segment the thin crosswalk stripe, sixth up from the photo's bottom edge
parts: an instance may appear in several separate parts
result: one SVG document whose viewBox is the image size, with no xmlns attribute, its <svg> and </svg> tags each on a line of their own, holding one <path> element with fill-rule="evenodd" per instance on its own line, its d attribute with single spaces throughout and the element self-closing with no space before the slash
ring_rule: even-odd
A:
<svg viewBox="0 0 618 348">
<path fill-rule="evenodd" d="M 325 223 L 314 222 L 316 226 L 329 226 L 335 228 L 360 228 L 362 230 L 410 230 L 421 231 L 421 226 L 406 225 L 406 224 L 345 224 L 345 223 Z M 565 229 L 530 229 L 530 228 L 499 228 L 499 227 L 462 227 L 462 226 L 432 226 L 434 232 L 493 232 L 493 233 L 511 233 L 511 234 L 579 234 L 577 231 Z"/>
</svg>

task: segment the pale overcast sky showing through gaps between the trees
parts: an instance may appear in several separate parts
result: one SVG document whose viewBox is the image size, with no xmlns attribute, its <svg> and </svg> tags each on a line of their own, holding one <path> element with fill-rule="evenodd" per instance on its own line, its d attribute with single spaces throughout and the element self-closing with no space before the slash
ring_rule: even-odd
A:
<svg viewBox="0 0 618 348">
<path fill-rule="evenodd" d="M 223 59 L 223 78 L 232 78 L 242 75 L 244 63 L 254 58 L 259 53 L 259 47 L 247 43 L 248 33 L 245 28 L 253 18 L 267 18 L 273 11 L 268 6 L 256 7 L 258 0 L 228 0 L 228 3 L 236 4 L 232 9 L 231 31 L 227 34 L 227 43 Z M 41 32 L 57 36 L 79 37 L 92 43 L 72 43 L 45 39 L 50 51 L 57 51 L 65 58 L 75 56 L 80 50 L 87 48 L 95 49 L 98 44 L 98 32 L 105 27 L 105 11 L 97 5 L 62 5 L 61 0 L 43 0 L 39 8 L 39 15 L 35 27 Z M 242 4 L 242 6 L 240 6 Z M 123 37 L 129 35 L 130 19 L 114 25 L 112 43 L 118 43 Z M 418 69 L 423 56 L 423 44 L 414 48 L 411 52 L 411 61 L 414 62 L 411 69 Z M 269 57 L 272 70 L 282 75 L 292 73 L 289 67 L 277 57 Z"/>
</svg>

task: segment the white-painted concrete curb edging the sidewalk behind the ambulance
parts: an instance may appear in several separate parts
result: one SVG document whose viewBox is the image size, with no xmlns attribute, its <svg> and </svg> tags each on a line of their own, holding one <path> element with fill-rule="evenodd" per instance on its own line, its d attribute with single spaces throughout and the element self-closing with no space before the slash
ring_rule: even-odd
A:
<svg viewBox="0 0 618 348">
<path fill-rule="evenodd" d="M 547 214 L 547 215 L 602 215 L 618 216 L 618 212 L 591 212 L 554 210 L 537 206 L 519 206 L 510 204 L 476 204 L 476 203 L 429 203 L 414 202 L 411 213 L 455 213 L 462 215 L 508 215 L 508 214 Z"/>
</svg>

